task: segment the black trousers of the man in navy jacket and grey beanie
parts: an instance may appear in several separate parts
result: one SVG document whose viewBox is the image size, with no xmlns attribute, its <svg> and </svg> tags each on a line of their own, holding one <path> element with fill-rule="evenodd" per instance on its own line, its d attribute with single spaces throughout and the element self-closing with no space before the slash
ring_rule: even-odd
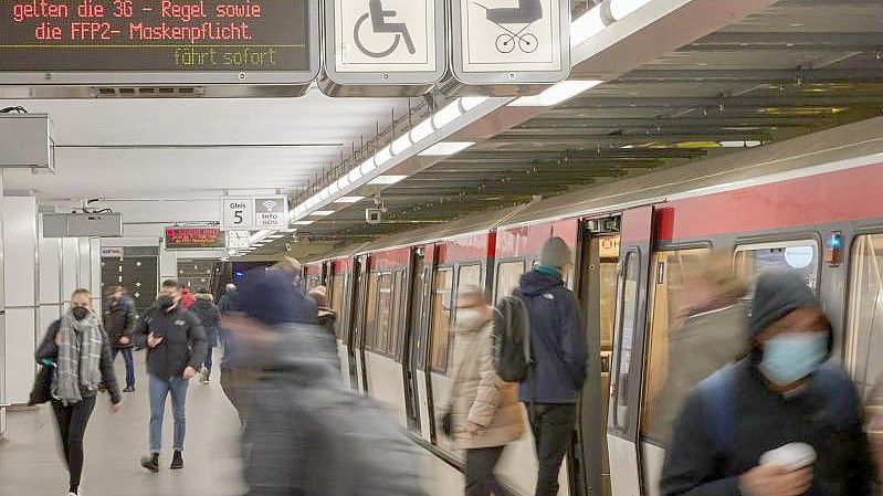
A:
<svg viewBox="0 0 883 496">
<path fill-rule="evenodd" d="M 577 405 L 535 403 L 527 409 L 539 464 L 535 496 L 556 496 L 558 473 L 576 428 Z"/>
</svg>

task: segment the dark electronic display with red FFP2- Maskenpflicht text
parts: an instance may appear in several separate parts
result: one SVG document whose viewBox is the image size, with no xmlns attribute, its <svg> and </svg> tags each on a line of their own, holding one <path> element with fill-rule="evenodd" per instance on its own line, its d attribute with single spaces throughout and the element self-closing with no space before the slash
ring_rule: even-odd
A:
<svg viewBox="0 0 883 496">
<path fill-rule="evenodd" d="M 304 84 L 319 0 L 0 0 L 10 84 Z"/>
</svg>

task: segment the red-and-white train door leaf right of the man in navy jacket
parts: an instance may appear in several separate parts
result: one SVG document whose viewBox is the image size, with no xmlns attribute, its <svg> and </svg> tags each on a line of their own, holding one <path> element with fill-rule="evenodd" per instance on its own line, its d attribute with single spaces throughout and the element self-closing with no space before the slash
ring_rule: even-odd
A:
<svg viewBox="0 0 883 496">
<path fill-rule="evenodd" d="M 607 422 L 613 496 L 639 496 L 642 487 L 638 423 L 653 217 L 653 207 L 622 212 L 616 337 Z"/>
</svg>

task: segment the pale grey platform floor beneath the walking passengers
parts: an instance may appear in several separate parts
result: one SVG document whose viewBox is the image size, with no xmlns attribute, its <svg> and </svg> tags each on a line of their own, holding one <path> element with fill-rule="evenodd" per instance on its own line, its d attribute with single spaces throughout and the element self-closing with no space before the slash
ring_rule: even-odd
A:
<svg viewBox="0 0 883 496">
<path fill-rule="evenodd" d="M 185 468 L 169 471 L 170 452 L 161 469 L 150 474 L 139 465 L 147 452 L 148 398 L 144 353 L 136 353 L 138 391 L 124 395 L 124 407 L 112 414 L 103 394 L 90 420 L 85 440 L 84 496 L 240 496 L 239 421 L 227 401 L 219 377 L 203 386 L 193 380 L 187 399 Z M 117 359 L 123 378 L 123 359 Z M 170 405 L 167 404 L 167 409 Z M 164 424 L 164 446 L 171 447 L 171 412 Z M 425 490 L 431 496 L 462 494 L 462 475 L 434 456 L 424 456 Z M 0 440 L 0 495 L 65 496 L 67 472 L 57 445 L 55 420 L 49 405 L 10 412 L 7 436 Z"/>
</svg>

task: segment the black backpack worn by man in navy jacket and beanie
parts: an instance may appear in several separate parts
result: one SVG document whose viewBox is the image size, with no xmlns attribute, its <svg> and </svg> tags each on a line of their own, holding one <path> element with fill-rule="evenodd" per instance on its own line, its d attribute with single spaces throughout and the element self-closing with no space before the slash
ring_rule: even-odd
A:
<svg viewBox="0 0 883 496">
<path fill-rule="evenodd" d="M 530 357 L 530 316 L 524 299 L 502 298 L 494 307 L 494 369 L 506 382 L 527 379 Z"/>
</svg>

